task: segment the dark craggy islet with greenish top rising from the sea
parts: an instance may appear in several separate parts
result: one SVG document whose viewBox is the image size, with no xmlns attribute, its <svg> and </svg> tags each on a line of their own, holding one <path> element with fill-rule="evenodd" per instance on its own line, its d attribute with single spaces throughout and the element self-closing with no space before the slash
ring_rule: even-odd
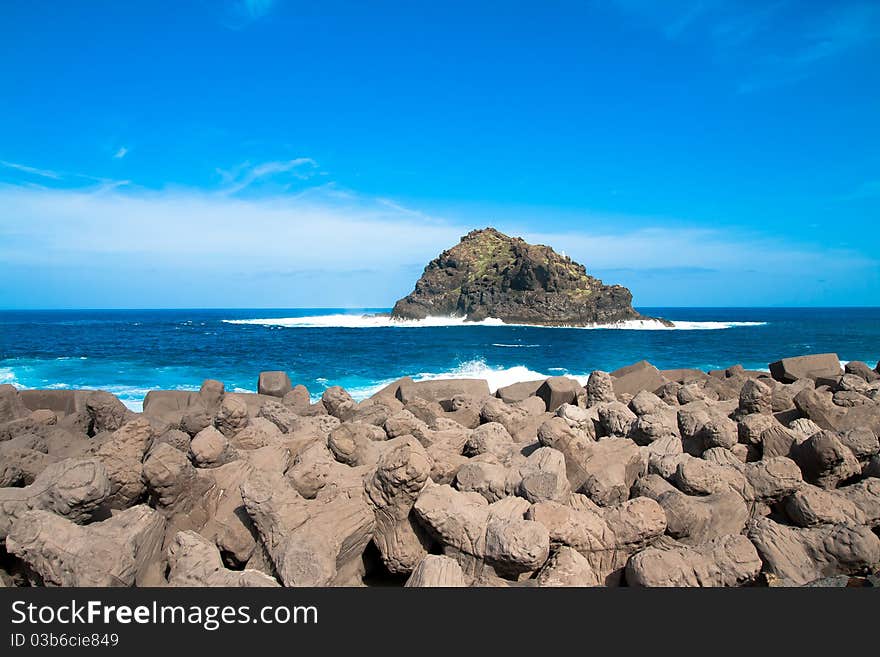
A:
<svg viewBox="0 0 880 657">
<path fill-rule="evenodd" d="M 625 287 L 604 285 L 549 246 L 494 228 L 468 233 L 432 260 L 415 290 L 392 311 L 401 319 L 449 315 L 543 325 L 644 319 Z"/>
</svg>

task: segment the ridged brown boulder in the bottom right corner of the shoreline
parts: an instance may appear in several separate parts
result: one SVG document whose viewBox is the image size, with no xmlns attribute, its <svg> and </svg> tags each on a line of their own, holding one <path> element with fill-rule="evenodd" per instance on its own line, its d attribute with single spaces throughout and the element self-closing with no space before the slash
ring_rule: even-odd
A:
<svg viewBox="0 0 880 657">
<path fill-rule="evenodd" d="M 880 538 L 867 527 L 786 527 L 768 518 L 750 521 L 749 539 L 764 571 L 803 585 L 821 577 L 853 574 L 880 563 Z"/>
</svg>

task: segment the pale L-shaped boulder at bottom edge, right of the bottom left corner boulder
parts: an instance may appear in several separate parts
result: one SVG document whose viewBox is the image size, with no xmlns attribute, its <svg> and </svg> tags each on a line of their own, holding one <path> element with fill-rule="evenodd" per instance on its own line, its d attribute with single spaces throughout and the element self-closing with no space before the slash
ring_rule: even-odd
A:
<svg viewBox="0 0 880 657">
<path fill-rule="evenodd" d="M 274 578 L 257 570 L 229 570 L 220 551 L 193 531 L 178 532 L 168 547 L 168 583 L 171 586 L 278 586 Z"/>
</svg>

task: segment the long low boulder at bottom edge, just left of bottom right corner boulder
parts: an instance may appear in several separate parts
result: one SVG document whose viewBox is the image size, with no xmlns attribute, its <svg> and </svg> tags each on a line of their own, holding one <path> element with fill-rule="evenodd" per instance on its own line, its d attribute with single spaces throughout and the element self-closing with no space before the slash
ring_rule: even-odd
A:
<svg viewBox="0 0 880 657">
<path fill-rule="evenodd" d="M 630 586 L 739 586 L 761 570 L 755 546 L 745 536 L 719 536 L 694 546 L 649 547 L 626 565 Z"/>
</svg>

